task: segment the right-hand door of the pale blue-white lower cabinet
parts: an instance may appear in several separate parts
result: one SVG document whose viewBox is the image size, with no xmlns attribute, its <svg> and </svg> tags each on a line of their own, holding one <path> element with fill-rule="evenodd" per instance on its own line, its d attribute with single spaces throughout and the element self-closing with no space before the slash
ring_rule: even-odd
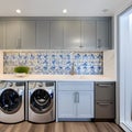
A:
<svg viewBox="0 0 132 132">
<path fill-rule="evenodd" d="M 94 118 L 94 91 L 79 91 L 78 94 L 78 118 Z"/>
</svg>

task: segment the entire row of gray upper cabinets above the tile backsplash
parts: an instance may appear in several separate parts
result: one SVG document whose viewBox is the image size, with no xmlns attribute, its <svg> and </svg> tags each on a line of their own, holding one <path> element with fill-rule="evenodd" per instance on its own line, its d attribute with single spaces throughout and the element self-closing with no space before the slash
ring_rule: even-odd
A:
<svg viewBox="0 0 132 132">
<path fill-rule="evenodd" d="M 0 21 L 0 48 L 103 51 L 111 45 L 111 18 Z"/>
</svg>

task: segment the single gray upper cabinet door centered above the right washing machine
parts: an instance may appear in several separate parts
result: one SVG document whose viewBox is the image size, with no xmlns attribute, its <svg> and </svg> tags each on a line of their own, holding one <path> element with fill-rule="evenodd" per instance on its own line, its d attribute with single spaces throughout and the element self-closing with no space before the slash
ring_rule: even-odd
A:
<svg viewBox="0 0 132 132">
<path fill-rule="evenodd" d="M 50 21 L 36 22 L 36 48 L 50 50 Z"/>
</svg>

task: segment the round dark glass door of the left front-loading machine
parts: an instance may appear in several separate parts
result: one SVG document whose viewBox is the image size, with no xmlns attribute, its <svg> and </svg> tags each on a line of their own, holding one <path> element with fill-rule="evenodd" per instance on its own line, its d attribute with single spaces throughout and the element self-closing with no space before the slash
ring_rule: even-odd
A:
<svg viewBox="0 0 132 132">
<path fill-rule="evenodd" d="M 22 96 L 13 89 L 6 89 L 0 96 L 1 110 L 4 113 L 15 113 L 22 105 Z"/>
</svg>

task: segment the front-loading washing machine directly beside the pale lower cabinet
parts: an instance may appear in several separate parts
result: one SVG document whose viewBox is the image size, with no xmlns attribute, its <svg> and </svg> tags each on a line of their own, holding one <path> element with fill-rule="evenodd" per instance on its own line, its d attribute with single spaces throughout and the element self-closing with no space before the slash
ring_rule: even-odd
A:
<svg viewBox="0 0 132 132">
<path fill-rule="evenodd" d="M 55 121 L 55 81 L 29 81 L 29 121 Z"/>
</svg>

